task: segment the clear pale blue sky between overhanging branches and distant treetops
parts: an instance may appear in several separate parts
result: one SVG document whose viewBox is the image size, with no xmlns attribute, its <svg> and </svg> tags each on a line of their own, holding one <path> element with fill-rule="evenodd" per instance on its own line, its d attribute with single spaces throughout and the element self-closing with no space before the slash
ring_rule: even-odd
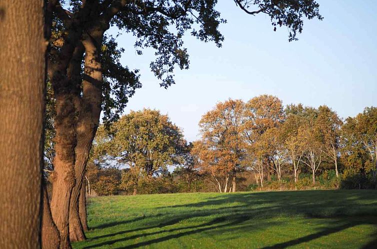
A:
<svg viewBox="0 0 377 249">
<path fill-rule="evenodd" d="M 298 41 L 288 42 L 285 27 L 276 32 L 268 16 L 247 15 L 232 0 L 219 0 L 227 23 L 221 48 L 186 36 L 190 68 L 175 71 L 167 90 L 150 72 L 153 50 L 136 55 L 134 37 L 120 36 L 126 50 L 121 62 L 141 72 L 125 109 L 159 109 L 183 129 L 188 141 L 198 138 L 198 121 L 216 102 L 245 101 L 272 94 L 283 104 L 330 106 L 341 117 L 377 105 L 377 1 L 317 0 L 322 21 L 306 20 Z"/>
</svg>

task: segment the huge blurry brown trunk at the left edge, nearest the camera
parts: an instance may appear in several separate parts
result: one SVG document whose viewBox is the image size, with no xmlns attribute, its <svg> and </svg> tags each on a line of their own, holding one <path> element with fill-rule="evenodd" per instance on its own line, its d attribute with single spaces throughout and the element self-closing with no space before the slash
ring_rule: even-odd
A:
<svg viewBox="0 0 377 249">
<path fill-rule="evenodd" d="M 0 248 L 39 248 L 45 91 L 42 0 L 0 1 Z"/>
</svg>

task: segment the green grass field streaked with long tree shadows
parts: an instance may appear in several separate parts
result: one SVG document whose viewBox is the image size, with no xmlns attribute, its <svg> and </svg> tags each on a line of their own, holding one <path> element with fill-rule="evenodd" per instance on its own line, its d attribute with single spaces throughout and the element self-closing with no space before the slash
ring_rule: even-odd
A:
<svg viewBox="0 0 377 249">
<path fill-rule="evenodd" d="M 74 248 L 377 248 L 377 191 L 93 197 L 88 224 Z"/>
</svg>

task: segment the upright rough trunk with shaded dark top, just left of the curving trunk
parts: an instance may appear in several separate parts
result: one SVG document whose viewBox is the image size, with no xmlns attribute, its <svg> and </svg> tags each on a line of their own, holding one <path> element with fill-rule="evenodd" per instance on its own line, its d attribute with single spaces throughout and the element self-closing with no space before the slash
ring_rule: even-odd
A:
<svg viewBox="0 0 377 249">
<path fill-rule="evenodd" d="M 55 158 L 51 174 L 52 197 L 50 209 L 59 230 L 60 248 L 70 248 L 69 200 L 75 183 L 74 163 L 76 146 L 76 112 L 79 108 L 80 66 L 83 48 L 75 47 L 69 63 L 57 65 L 51 82 L 55 93 Z M 69 54 L 66 54 L 69 56 Z M 65 72 L 64 72 L 65 70 Z"/>
</svg>

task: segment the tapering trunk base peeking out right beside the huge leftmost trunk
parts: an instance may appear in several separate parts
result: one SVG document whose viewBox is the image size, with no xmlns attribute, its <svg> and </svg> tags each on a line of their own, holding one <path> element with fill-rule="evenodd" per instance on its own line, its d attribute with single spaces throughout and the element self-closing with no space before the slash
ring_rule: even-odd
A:
<svg viewBox="0 0 377 249">
<path fill-rule="evenodd" d="M 52 220 L 51 211 L 49 209 L 48 194 L 43 184 L 43 212 L 42 212 L 42 249 L 59 248 L 60 237 L 59 231 Z"/>
</svg>

